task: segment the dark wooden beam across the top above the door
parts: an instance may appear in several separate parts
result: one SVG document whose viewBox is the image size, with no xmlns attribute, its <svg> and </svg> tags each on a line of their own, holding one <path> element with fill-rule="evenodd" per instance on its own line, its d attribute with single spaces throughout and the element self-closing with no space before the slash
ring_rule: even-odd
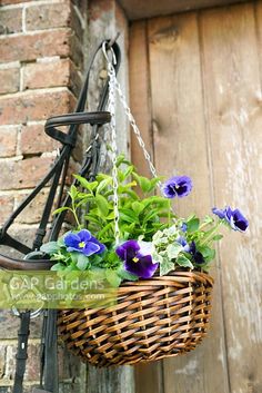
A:
<svg viewBox="0 0 262 393">
<path fill-rule="evenodd" d="M 244 0 L 118 0 L 130 20 L 232 4 Z"/>
</svg>

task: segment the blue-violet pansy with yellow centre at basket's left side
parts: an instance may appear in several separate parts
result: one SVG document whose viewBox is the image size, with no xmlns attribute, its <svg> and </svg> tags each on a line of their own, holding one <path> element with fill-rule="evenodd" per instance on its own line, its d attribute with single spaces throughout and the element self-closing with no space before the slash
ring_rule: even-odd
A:
<svg viewBox="0 0 262 393">
<path fill-rule="evenodd" d="M 90 256 L 101 254 L 105 249 L 104 245 L 93 237 L 88 229 L 82 229 L 77 234 L 71 232 L 64 236 L 63 240 L 69 253 L 78 252 Z"/>
</svg>

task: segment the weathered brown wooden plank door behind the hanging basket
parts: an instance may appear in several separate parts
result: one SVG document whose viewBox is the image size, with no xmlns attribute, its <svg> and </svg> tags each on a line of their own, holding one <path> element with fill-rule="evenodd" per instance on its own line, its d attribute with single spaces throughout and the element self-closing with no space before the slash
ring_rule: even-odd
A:
<svg viewBox="0 0 262 393">
<path fill-rule="evenodd" d="M 187 174 L 180 215 L 239 207 L 246 234 L 216 249 L 212 326 L 191 354 L 138 366 L 138 393 L 262 392 L 262 2 L 140 20 L 131 106 L 159 174 Z M 132 157 L 147 174 L 138 144 Z"/>
</svg>

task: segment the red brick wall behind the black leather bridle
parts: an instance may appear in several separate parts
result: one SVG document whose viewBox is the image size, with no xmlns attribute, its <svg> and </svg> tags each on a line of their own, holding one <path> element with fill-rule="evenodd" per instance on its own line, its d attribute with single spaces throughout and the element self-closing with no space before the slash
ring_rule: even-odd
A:
<svg viewBox="0 0 262 393">
<path fill-rule="evenodd" d="M 58 145 L 44 120 L 70 112 L 81 83 L 85 1 L 0 0 L 0 226 L 50 168 Z M 77 151 L 80 151 L 79 149 Z M 74 154 L 75 160 L 78 154 Z M 47 189 L 10 233 L 30 244 Z M 39 377 L 40 321 L 33 321 L 26 393 Z M 18 321 L 0 313 L 0 393 L 11 391 Z M 80 392 L 79 361 L 60 355 L 61 392 Z"/>
</svg>

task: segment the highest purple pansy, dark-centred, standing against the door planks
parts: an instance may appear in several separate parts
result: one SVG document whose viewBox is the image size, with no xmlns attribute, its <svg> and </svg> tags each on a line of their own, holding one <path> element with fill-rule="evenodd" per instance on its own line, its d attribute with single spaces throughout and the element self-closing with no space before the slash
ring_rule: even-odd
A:
<svg viewBox="0 0 262 393">
<path fill-rule="evenodd" d="M 163 185 L 163 195 L 167 198 L 183 198 L 189 195 L 192 189 L 192 180 L 188 176 L 174 176 L 167 180 Z"/>
</svg>

